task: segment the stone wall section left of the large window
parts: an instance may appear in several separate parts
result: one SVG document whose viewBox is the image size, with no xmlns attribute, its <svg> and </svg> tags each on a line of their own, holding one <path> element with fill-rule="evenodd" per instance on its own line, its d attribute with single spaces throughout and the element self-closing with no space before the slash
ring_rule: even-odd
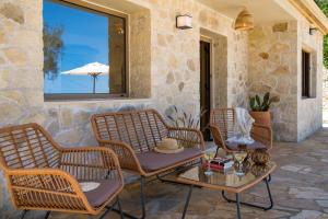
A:
<svg viewBox="0 0 328 219">
<path fill-rule="evenodd" d="M 40 0 L 0 3 L 0 125 L 43 123 Z M 19 89 L 17 89 L 19 88 Z M 0 218 L 13 218 L 0 173 Z"/>
</svg>

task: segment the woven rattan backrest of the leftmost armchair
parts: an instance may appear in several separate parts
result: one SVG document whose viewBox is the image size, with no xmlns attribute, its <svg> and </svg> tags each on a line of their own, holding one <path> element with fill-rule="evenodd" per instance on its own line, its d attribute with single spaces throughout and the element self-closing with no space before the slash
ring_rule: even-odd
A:
<svg viewBox="0 0 328 219">
<path fill-rule="evenodd" d="M 37 124 L 0 129 L 0 162 L 11 169 L 57 168 L 60 153 Z"/>
</svg>

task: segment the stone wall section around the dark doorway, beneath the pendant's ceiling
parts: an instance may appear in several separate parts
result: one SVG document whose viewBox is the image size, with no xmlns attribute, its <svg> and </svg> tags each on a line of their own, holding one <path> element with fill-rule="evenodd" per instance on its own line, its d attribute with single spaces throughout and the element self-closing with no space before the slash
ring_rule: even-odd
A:
<svg viewBox="0 0 328 219">
<path fill-rule="evenodd" d="M 227 62 L 226 103 L 244 104 L 247 60 L 243 58 L 247 57 L 247 34 L 235 32 L 231 20 L 196 1 L 166 1 L 165 7 L 161 1 L 152 2 L 152 64 L 156 64 L 152 65 L 154 105 L 164 110 L 162 112 L 167 106 L 177 105 L 188 113 L 198 114 L 201 28 L 227 38 L 227 60 L 231 61 Z M 184 10 L 180 9 L 183 5 Z M 192 14 L 192 30 L 175 27 L 175 18 L 179 13 Z"/>
</svg>

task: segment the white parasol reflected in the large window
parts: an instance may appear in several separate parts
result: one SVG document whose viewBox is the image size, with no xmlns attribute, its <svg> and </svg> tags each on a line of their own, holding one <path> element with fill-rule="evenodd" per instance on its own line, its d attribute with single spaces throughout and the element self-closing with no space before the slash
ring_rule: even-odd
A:
<svg viewBox="0 0 328 219">
<path fill-rule="evenodd" d="M 96 78 L 101 74 L 109 73 L 109 66 L 99 64 L 99 62 L 91 62 L 86 64 L 82 67 L 71 69 L 69 71 L 61 72 L 62 74 L 74 74 L 74 76 L 83 76 L 87 74 L 93 78 L 93 93 L 95 93 L 95 81 Z"/>
</svg>

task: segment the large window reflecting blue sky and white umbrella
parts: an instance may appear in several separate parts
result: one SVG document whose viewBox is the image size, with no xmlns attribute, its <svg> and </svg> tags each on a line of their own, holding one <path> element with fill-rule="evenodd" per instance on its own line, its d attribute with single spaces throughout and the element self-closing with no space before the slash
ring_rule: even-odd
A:
<svg viewBox="0 0 328 219">
<path fill-rule="evenodd" d="M 124 96 L 126 18 L 44 0 L 46 99 Z"/>
</svg>

